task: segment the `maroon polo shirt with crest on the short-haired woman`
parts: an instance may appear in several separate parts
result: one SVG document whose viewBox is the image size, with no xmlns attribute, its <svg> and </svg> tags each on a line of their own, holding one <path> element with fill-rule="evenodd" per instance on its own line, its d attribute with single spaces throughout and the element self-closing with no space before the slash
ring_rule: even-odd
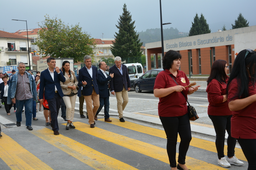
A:
<svg viewBox="0 0 256 170">
<path fill-rule="evenodd" d="M 156 76 L 154 89 L 165 89 L 177 86 L 172 77 L 181 86 L 187 86 L 189 80 L 183 71 L 177 70 L 178 74 L 175 77 L 169 70 L 165 69 Z M 172 77 L 170 76 L 172 75 Z M 187 97 L 188 88 L 182 91 Z M 158 115 L 161 117 L 183 116 L 188 112 L 187 101 L 181 92 L 172 92 L 171 94 L 160 97 L 158 103 Z"/>
</svg>

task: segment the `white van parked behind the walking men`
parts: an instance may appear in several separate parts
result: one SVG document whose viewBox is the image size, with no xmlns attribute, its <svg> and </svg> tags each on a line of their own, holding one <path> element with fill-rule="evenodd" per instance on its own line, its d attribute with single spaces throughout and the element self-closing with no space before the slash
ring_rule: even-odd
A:
<svg viewBox="0 0 256 170">
<path fill-rule="evenodd" d="M 133 81 L 138 79 L 142 74 L 144 74 L 143 67 L 140 63 L 130 63 L 124 64 L 128 69 L 128 74 L 131 81 L 131 86 L 133 86 Z"/>
</svg>

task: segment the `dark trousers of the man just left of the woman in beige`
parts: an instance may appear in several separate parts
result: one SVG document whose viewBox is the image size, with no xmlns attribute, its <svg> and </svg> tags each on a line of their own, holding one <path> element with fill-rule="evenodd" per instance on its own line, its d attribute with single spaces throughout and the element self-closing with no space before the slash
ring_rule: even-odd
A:
<svg viewBox="0 0 256 170">
<path fill-rule="evenodd" d="M 59 131 L 58 115 L 60 110 L 61 97 L 59 93 L 55 93 L 52 99 L 47 99 L 49 110 L 51 111 L 51 124 L 53 131 Z"/>
</svg>

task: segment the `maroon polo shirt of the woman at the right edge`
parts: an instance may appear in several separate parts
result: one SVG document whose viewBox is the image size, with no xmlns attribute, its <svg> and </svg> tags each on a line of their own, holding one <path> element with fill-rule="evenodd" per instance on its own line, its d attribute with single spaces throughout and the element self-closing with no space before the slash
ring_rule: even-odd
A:
<svg viewBox="0 0 256 170">
<path fill-rule="evenodd" d="M 250 84 L 252 84 L 251 81 L 249 82 L 249 85 Z M 248 90 L 249 96 L 256 94 L 255 87 L 249 86 Z M 233 79 L 228 88 L 228 103 L 232 100 L 238 99 L 237 92 L 237 79 Z M 232 112 L 233 117 L 231 118 L 231 136 L 233 138 L 241 139 L 256 139 L 256 102 L 251 103 L 242 110 Z"/>
</svg>

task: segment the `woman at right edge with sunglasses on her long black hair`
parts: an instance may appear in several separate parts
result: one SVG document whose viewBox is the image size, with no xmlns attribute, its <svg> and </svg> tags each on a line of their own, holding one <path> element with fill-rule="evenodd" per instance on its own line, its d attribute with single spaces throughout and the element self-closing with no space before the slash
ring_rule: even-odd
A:
<svg viewBox="0 0 256 170">
<path fill-rule="evenodd" d="M 242 50 L 230 74 L 227 95 L 233 112 L 231 136 L 240 144 L 248 170 L 256 169 L 256 52 Z"/>
</svg>

